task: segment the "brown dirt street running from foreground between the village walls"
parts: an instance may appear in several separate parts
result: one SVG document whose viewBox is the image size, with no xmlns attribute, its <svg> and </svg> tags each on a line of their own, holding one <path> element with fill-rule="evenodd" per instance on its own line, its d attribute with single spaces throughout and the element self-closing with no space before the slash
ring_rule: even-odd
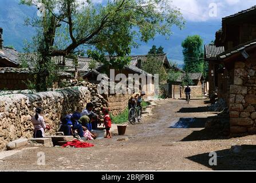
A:
<svg viewBox="0 0 256 183">
<path fill-rule="evenodd" d="M 93 148 L 26 148 L 0 160 L 0 170 L 256 169 L 256 150 L 251 150 L 256 149 L 256 136 L 217 139 L 206 132 L 207 117 L 216 114 L 207 111 L 203 100 L 189 105 L 180 100 L 157 104 L 143 124 L 127 127 L 128 141 L 117 141 L 122 137 L 115 135 L 111 140 L 92 141 Z M 232 145 L 255 146 L 244 146 L 249 150 L 233 154 Z M 37 165 L 38 152 L 45 153 L 45 166 Z M 208 165 L 210 152 L 218 154 L 217 166 Z"/>
</svg>

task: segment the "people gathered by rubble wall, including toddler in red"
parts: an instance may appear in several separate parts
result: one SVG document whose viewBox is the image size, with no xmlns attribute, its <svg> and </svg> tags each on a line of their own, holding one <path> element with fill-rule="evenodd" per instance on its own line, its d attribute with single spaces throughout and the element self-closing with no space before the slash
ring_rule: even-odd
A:
<svg viewBox="0 0 256 183">
<path fill-rule="evenodd" d="M 85 137 L 87 140 L 93 140 L 97 137 L 96 133 L 92 130 L 97 130 L 98 125 L 101 125 L 99 116 L 93 111 L 93 104 L 86 104 L 86 108 L 81 113 L 74 112 L 73 114 L 67 114 L 62 118 L 59 132 L 64 132 L 65 136 L 79 136 Z M 44 117 L 41 116 L 42 109 L 36 109 L 36 115 L 32 118 L 34 126 L 34 138 L 45 137 L 45 129 L 50 129 L 49 125 L 45 124 Z M 109 116 L 109 109 L 103 109 L 104 125 L 107 130 L 107 136 L 105 138 L 111 138 L 111 118 Z"/>
</svg>

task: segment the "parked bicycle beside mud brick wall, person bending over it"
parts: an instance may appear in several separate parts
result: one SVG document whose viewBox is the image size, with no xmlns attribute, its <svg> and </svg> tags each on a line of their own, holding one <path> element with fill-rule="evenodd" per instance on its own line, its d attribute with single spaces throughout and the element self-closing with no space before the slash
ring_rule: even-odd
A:
<svg viewBox="0 0 256 183">
<path fill-rule="evenodd" d="M 129 109 L 128 120 L 132 125 L 142 121 L 142 108 L 140 105 L 141 102 L 142 100 L 135 101 L 133 107 Z"/>
</svg>

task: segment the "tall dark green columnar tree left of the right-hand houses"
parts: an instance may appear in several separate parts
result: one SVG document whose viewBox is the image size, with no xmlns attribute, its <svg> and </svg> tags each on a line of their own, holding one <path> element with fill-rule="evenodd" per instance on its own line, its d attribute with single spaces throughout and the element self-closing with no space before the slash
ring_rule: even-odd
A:
<svg viewBox="0 0 256 183">
<path fill-rule="evenodd" d="M 183 42 L 184 67 L 188 73 L 203 73 L 203 39 L 199 35 L 188 36 Z"/>
</svg>

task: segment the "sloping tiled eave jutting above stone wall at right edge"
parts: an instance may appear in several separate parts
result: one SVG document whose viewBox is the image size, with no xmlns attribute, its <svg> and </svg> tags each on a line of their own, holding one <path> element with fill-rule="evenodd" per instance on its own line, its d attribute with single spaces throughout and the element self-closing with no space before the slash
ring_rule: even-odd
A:
<svg viewBox="0 0 256 183">
<path fill-rule="evenodd" d="M 256 45 L 256 39 L 243 43 L 242 45 L 238 45 L 234 47 L 233 49 L 227 50 L 222 54 L 218 55 L 218 58 L 223 59 L 223 58 L 228 58 L 231 55 L 237 54 L 237 53 L 242 53 L 243 50 L 245 50 L 247 47 L 254 46 Z"/>
</svg>

